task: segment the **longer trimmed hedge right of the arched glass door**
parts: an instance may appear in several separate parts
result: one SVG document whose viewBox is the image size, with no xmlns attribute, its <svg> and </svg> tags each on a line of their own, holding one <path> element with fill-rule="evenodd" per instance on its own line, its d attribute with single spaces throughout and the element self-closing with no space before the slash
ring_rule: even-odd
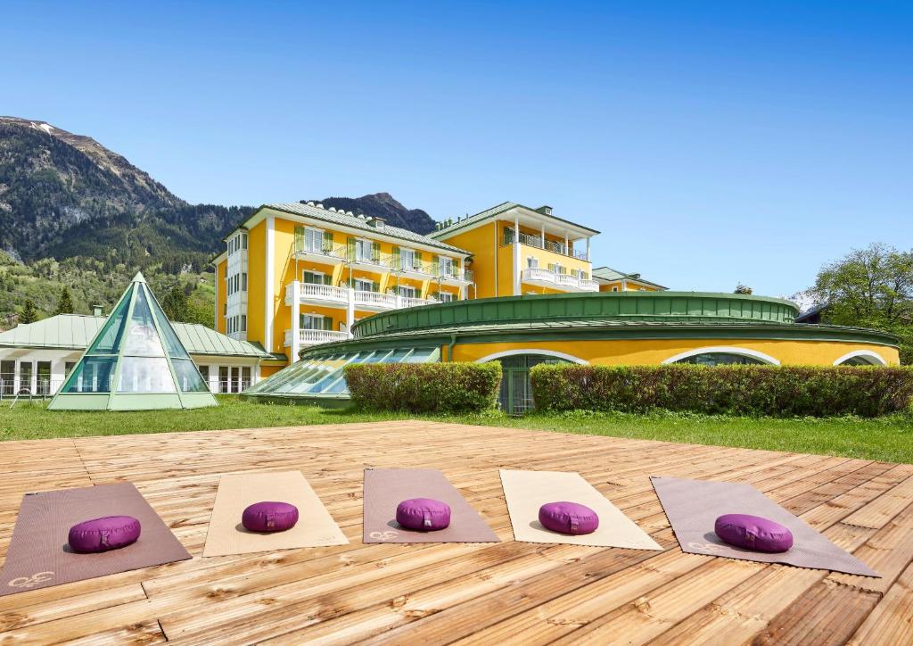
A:
<svg viewBox="0 0 913 646">
<path fill-rule="evenodd" d="M 537 365 L 530 375 L 540 410 L 872 418 L 913 402 L 910 367 Z"/>
</svg>

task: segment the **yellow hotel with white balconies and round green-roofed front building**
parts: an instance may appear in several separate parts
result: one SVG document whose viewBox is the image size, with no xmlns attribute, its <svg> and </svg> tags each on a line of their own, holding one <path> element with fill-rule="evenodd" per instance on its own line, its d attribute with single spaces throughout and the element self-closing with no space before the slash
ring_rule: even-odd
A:
<svg viewBox="0 0 913 646">
<path fill-rule="evenodd" d="M 215 259 L 217 330 L 272 355 L 261 376 L 289 366 L 251 395 L 320 402 L 348 397 L 352 362 L 498 361 L 512 411 L 530 405 L 529 369 L 542 362 L 898 363 L 893 335 L 795 323 L 789 301 L 594 269 L 597 234 L 514 202 L 427 236 L 321 205 L 266 205 Z"/>
</svg>

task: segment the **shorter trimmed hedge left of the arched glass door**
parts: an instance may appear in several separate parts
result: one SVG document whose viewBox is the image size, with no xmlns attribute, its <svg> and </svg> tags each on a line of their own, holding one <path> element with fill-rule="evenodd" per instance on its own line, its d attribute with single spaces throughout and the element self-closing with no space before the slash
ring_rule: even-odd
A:
<svg viewBox="0 0 913 646">
<path fill-rule="evenodd" d="M 468 412 L 492 408 L 501 365 L 355 364 L 344 369 L 352 403 L 365 410 L 413 413 Z"/>
</svg>

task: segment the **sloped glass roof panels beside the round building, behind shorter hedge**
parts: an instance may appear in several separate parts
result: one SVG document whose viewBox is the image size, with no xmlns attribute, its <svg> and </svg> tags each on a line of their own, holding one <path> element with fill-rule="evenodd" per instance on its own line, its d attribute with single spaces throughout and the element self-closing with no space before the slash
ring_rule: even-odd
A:
<svg viewBox="0 0 913 646">
<path fill-rule="evenodd" d="M 321 355 L 302 359 L 279 370 L 242 395 L 260 397 L 318 397 L 348 399 L 342 368 L 350 364 L 424 364 L 440 359 L 440 349 L 392 348 Z"/>
</svg>

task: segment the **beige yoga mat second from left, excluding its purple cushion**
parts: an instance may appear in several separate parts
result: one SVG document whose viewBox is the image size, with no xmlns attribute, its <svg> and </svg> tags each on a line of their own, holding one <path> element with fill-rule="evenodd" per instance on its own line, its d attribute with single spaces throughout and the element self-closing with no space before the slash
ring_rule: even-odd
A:
<svg viewBox="0 0 913 646">
<path fill-rule="evenodd" d="M 241 524 L 241 514 L 248 505 L 262 501 L 294 504 L 298 507 L 298 524 L 285 532 L 248 532 Z M 301 471 L 236 473 L 219 480 L 203 556 L 348 544 Z"/>
</svg>

